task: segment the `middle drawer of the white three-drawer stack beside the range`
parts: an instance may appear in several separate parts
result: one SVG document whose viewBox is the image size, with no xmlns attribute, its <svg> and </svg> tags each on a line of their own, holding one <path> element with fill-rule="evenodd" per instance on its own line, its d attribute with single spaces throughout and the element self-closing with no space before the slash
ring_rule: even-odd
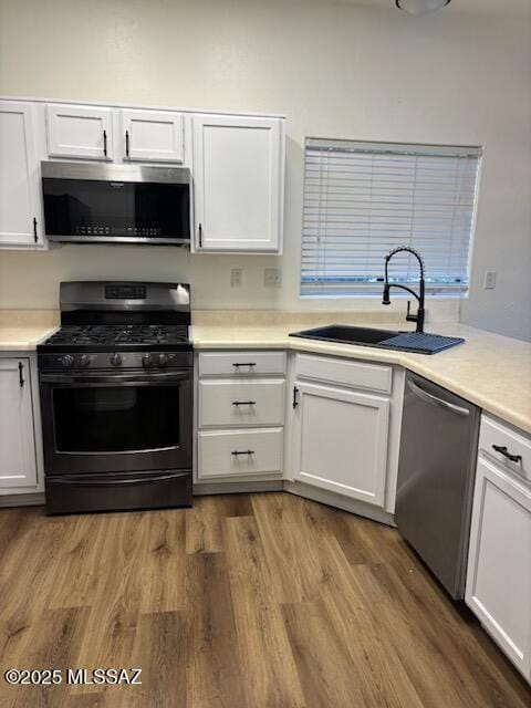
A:
<svg viewBox="0 0 531 708">
<path fill-rule="evenodd" d="M 199 427 L 282 425 L 284 382 L 199 382 Z"/>
</svg>

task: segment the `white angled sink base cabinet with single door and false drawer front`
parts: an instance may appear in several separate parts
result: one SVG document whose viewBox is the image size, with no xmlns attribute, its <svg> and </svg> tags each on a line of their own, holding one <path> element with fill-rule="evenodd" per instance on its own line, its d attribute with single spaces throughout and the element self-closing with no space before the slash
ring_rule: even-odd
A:
<svg viewBox="0 0 531 708">
<path fill-rule="evenodd" d="M 292 384 L 289 479 L 393 513 L 403 377 L 388 365 L 301 353 Z"/>
</svg>

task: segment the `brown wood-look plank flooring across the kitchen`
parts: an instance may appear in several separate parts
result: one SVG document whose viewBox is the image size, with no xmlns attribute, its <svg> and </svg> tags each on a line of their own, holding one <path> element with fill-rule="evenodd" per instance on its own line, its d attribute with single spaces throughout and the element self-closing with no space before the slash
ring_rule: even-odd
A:
<svg viewBox="0 0 531 708">
<path fill-rule="evenodd" d="M 529 708 L 394 529 L 288 493 L 0 510 L 0 708 Z M 8 668 L 140 667 L 10 687 Z"/>
</svg>

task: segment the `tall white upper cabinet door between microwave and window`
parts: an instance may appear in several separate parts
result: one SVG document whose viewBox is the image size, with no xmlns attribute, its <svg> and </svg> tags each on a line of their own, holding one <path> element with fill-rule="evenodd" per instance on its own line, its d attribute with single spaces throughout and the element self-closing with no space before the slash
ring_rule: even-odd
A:
<svg viewBox="0 0 531 708">
<path fill-rule="evenodd" d="M 194 116 L 196 244 L 209 251 L 279 251 L 280 118 Z"/>
</svg>

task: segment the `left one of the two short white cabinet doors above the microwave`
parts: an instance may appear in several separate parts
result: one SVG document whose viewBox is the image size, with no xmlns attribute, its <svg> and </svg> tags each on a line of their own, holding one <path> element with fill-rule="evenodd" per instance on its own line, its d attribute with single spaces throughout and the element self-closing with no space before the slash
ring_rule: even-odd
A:
<svg viewBox="0 0 531 708">
<path fill-rule="evenodd" d="M 113 159 L 113 108 L 49 104 L 46 132 L 51 157 Z"/>
</svg>

